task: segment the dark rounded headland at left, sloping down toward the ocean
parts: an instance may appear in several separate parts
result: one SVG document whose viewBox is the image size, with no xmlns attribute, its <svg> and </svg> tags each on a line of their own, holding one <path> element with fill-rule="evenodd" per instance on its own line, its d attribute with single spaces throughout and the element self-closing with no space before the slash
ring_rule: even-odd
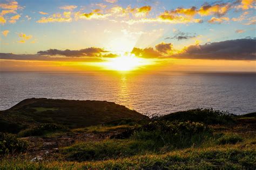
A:
<svg viewBox="0 0 256 170">
<path fill-rule="evenodd" d="M 29 98 L 0 112 L 1 131 L 9 132 L 17 132 L 26 126 L 41 123 L 80 128 L 127 118 L 138 120 L 147 117 L 113 102 L 48 98 Z"/>
</svg>

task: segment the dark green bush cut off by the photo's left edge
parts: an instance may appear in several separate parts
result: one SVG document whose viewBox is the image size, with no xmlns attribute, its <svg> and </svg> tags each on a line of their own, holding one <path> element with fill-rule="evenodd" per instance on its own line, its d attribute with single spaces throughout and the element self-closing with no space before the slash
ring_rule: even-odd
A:
<svg viewBox="0 0 256 170">
<path fill-rule="evenodd" d="M 28 143 L 15 134 L 0 133 L 0 154 L 24 152 L 27 148 Z"/>
</svg>

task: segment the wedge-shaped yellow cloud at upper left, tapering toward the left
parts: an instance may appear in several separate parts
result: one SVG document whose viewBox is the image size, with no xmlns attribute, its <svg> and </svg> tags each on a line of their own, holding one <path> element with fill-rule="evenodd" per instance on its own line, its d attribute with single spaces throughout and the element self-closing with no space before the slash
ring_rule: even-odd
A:
<svg viewBox="0 0 256 170">
<path fill-rule="evenodd" d="M 37 20 L 37 23 L 63 23 L 63 22 L 71 22 L 71 12 L 63 12 L 61 13 L 54 13 L 50 17 L 42 17 L 41 19 Z"/>
</svg>

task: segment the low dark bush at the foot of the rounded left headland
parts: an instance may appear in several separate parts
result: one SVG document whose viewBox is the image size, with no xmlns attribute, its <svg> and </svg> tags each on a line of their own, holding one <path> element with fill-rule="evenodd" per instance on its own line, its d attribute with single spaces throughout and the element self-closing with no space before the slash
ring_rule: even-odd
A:
<svg viewBox="0 0 256 170">
<path fill-rule="evenodd" d="M 42 136 L 49 132 L 56 132 L 56 131 L 65 131 L 68 130 L 66 126 L 59 125 L 59 124 L 41 124 L 35 126 L 33 128 L 25 129 L 18 133 L 19 137 L 28 137 L 28 136 Z"/>
</svg>

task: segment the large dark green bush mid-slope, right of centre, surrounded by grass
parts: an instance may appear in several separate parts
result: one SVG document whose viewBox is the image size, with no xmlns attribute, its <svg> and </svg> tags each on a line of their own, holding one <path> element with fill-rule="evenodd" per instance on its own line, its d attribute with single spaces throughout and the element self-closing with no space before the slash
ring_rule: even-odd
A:
<svg viewBox="0 0 256 170">
<path fill-rule="evenodd" d="M 153 140 L 154 145 L 188 147 L 202 143 L 212 130 L 203 123 L 153 121 L 130 128 L 112 138 Z"/>
</svg>

